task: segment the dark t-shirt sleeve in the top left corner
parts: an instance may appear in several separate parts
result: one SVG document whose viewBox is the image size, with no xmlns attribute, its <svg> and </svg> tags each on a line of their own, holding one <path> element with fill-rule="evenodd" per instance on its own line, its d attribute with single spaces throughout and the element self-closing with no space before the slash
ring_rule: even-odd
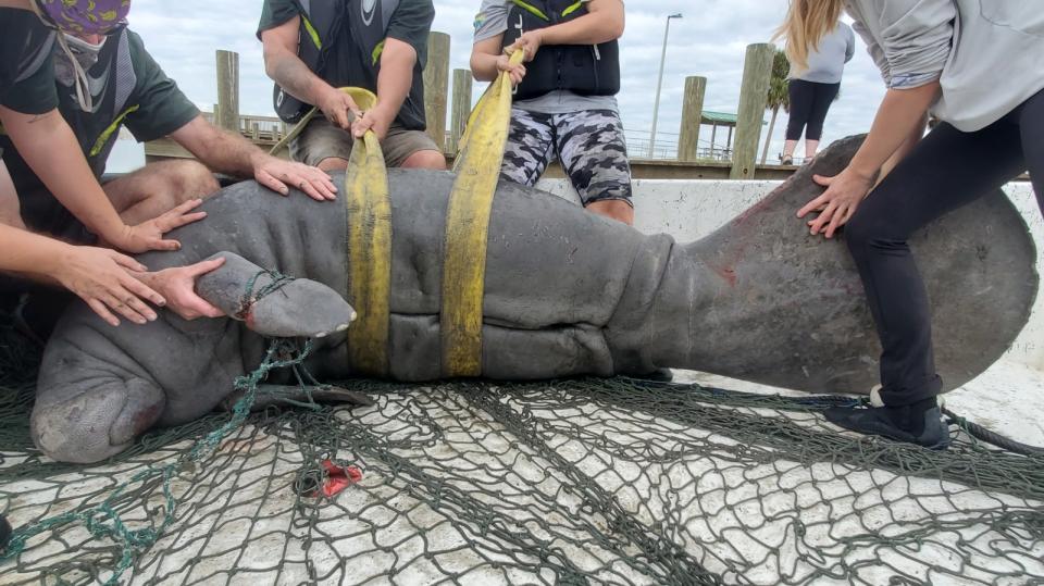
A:
<svg viewBox="0 0 1044 586">
<path fill-rule="evenodd" d="M 53 43 L 36 14 L 0 8 L 0 105 L 23 114 L 54 110 Z"/>
</svg>

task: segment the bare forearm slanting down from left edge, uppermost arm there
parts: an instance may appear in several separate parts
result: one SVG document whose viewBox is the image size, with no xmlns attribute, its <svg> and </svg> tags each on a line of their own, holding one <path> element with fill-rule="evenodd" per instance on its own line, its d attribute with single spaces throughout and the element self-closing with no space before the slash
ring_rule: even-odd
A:
<svg viewBox="0 0 1044 586">
<path fill-rule="evenodd" d="M 40 116 L 0 112 L 18 153 L 48 190 L 95 234 L 112 241 L 124 229 L 73 132 L 57 110 Z M 12 115 L 13 114 L 13 115 Z"/>
</svg>

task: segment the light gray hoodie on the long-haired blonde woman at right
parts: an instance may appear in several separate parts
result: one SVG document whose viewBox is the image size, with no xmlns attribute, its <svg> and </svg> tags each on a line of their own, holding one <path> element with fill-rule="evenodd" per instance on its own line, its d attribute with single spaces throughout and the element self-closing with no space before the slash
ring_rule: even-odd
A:
<svg viewBox="0 0 1044 586">
<path fill-rule="evenodd" d="M 993 124 L 1044 89 L 1044 0 L 846 0 L 890 88 L 939 79 L 940 119 Z"/>
</svg>

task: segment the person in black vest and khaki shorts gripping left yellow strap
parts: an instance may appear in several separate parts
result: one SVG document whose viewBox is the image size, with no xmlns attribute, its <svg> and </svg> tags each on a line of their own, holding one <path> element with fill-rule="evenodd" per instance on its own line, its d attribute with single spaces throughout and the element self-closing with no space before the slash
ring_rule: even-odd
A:
<svg viewBox="0 0 1044 586">
<path fill-rule="evenodd" d="M 359 8 L 265 0 L 258 37 L 265 72 L 276 83 L 275 111 L 288 124 L 311 105 L 322 113 L 290 142 L 290 155 L 340 171 L 348 166 L 353 137 L 372 129 L 388 166 L 445 170 L 446 158 L 424 133 L 421 75 L 434 18 L 431 0 L 378 0 Z M 344 86 L 376 93 L 376 105 L 362 112 L 338 89 Z"/>
</svg>

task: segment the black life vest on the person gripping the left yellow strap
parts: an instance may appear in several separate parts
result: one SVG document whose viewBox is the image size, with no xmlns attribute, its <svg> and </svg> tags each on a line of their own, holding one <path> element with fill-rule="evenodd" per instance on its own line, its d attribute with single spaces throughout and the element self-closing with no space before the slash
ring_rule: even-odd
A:
<svg viewBox="0 0 1044 586">
<path fill-rule="evenodd" d="M 350 83 L 326 80 L 334 85 L 353 85 L 376 91 L 384 39 L 398 5 L 399 0 L 298 0 L 301 26 L 297 54 L 312 72 L 323 77 L 324 68 L 336 51 L 338 62 L 358 62 L 359 68 L 365 71 L 352 72 L 355 75 L 349 76 L 355 79 Z M 352 14 L 349 23 L 350 11 L 358 11 L 359 14 Z M 353 60 L 353 55 L 358 54 L 365 55 L 365 59 Z M 414 79 L 414 85 L 418 82 Z M 275 112 L 290 124 L 301 120 L 311 110 L 311 104 L 290 96 L 278 84 L 273 102 Z"/>
</svg>

